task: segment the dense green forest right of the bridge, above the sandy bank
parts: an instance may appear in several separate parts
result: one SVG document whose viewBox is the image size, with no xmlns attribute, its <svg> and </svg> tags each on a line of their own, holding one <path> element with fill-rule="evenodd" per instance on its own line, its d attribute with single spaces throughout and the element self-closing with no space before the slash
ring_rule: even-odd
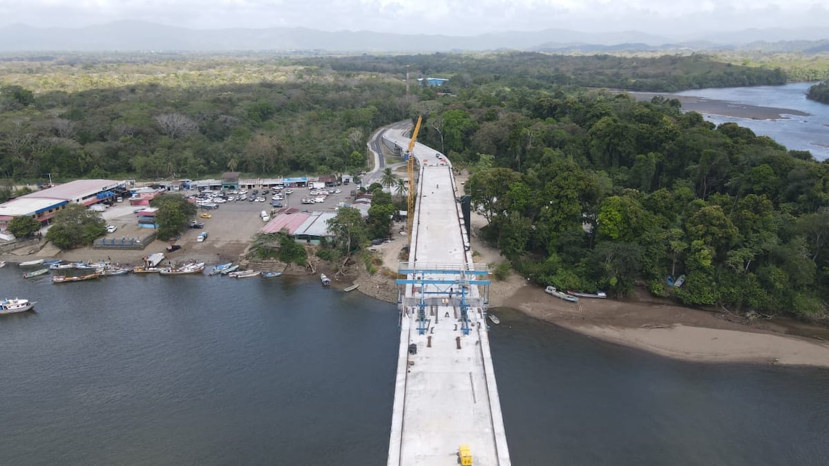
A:
<svg viewBox="0 0 829 466">
<path fill-rule="evenodd" d="M 829 164 L 810 153 L 607 91 L 469 90 L 421 132 L 471 167 L 482 235 L 538 284 L 826 316 Z"/>
</svg>

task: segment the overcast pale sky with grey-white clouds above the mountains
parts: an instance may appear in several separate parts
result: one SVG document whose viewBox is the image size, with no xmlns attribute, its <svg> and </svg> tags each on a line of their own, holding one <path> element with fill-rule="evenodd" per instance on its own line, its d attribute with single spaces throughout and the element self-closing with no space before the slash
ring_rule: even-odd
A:
<svg viewBox="0 0 829 466">
<path fill-rule="evenodd" d="M 749 27 L 829 28 L 829 0 L 0 0 L 0 26 L 81 27 L 123 19 L 452 36 L 550 27 L 698 36 Z"/>
</svg>

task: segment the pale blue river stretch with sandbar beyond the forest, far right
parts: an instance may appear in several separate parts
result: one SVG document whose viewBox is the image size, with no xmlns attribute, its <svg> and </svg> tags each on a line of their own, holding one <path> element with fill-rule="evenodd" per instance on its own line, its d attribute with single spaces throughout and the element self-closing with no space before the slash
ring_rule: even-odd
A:
<svg viewBox="0 0 829 466">
<path fill-rule="evenodd" d="M 745 119 L 705 114 L 705 119 L 715 124 L 736 122 L 756 134 L 773 138 L 790 150 L 807 150 L 812 152 L 817 160 L 825 160 L 829 158 L 829 105 L 806 98 L 806 92 L 812 84 L 790 83 L 685 90 L 676 95 L 704 97 L 734 104 L 793 109 L 806 113 L 807 116 L 783 114 L 783 119 Z"/>
</svg>

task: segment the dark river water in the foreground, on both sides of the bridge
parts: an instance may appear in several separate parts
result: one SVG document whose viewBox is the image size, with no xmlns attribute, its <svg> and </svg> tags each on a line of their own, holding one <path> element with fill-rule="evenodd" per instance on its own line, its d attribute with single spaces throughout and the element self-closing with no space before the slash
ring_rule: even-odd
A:
<svg viewBox="0 0 829 466">
<path fill-rule="evenodd" d="M 0 269 L 0 464 L 385 464 L 394 305 L 317 280 Z M 829 464 L 829 371 L 676 362 L 499 310 L 513 464 Z M 451 452 L 448 452 L 451 454 Z"/>
</svg>

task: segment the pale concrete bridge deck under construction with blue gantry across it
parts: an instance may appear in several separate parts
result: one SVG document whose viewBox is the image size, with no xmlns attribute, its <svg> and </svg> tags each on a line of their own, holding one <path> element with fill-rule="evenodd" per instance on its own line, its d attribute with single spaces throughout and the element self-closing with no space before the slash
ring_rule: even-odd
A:
<svg viewBox="0 0 829 466">
<path fill-rule="evenodd" d="M 409 141 L 398 129 L 384 138 L 402 147 Z M 487 335 L 486 268 L 473 263 L 451 164 L 419 143 L 414 157 L 419 198 L 410 260 L 400 265 L 406 279 L 398 281 L 400 348 L 388 464 L 456 465 L 458 445 L 468 444 L 476 466 L 506 466 Z"/>
</svg>

